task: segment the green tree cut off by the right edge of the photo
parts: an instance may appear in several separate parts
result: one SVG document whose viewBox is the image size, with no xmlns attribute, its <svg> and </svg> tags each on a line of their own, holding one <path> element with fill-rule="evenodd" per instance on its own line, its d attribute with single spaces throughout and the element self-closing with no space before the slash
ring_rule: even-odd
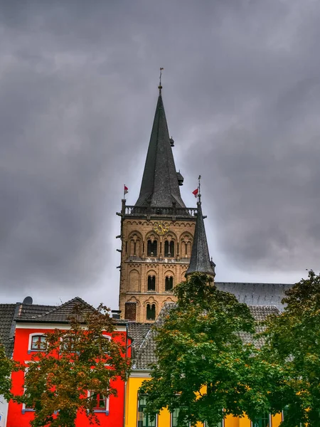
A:
<svg viewBox="0 0 320 427">
<path fill-rule="evenodd" d="M 284 408 L 283 427 L 320 426 L 320 275 L 309 271 L 285 292 L 284 312 L 265 331 L 265 359 L 278 364 L 285 381 L 270 399 Z"/>
</svg>

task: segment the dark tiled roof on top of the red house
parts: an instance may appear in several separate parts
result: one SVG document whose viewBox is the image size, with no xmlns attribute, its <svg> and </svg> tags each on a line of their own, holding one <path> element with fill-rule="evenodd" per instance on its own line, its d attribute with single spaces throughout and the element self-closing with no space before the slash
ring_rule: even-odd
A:
<svg viewBox="0 0 320 427">
<path fill-rule="evenodd" d="M 21 315 L 16 318 L 16 322 L 67 323 L 68 318 L 73 314 L 75 305 L 82 306 L 83 315 L 85 315 L 87 312 L 92 312 L 95 310 L 92 305 L 87 304 L 87 302 L 82 300 L 80 297 L 75 297 L 73 300 L 65 302 L 62 305 L 58 305 L 57 307 L 43 306 L 48 307 L 48 310 L 45 312 L 41 312 L 40 309 L 38 312 L 34 311 L 32 309 L 32 305 L 30 305 L 25 312 L 21 312 Z M 83 316 L 82 320 L 84 319 L 85 317 Z"/>
</svg>

